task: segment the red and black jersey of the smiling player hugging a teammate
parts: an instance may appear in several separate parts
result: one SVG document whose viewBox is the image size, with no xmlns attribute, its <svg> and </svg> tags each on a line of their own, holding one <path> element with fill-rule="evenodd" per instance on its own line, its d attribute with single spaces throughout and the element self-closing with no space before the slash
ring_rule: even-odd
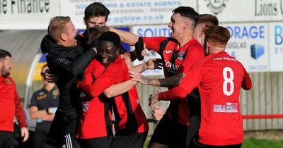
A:
<svg viewBox="0 0 283 148">
<path fill-rule="evenodd" d="M 111 85 L 125 82 L 129 79 L 129 69 L 127 68 L 125 59 L 118 56 L 114 62 L 110 63 L 108 67 L 105 68 L 104 72 L 96 79 L 93 85 L 78 82 L 77 87 L 81 88 L 83 92 L 89 93 L 91 96 L 95 97 Z M 139 95 L 135 86 L 128 92 L 115 97 L 113 112 L 115 114 L 116 132 L 123 130 L 146 132 L 149 130 L 146 116 L 139 104 Z"/>
</svg>

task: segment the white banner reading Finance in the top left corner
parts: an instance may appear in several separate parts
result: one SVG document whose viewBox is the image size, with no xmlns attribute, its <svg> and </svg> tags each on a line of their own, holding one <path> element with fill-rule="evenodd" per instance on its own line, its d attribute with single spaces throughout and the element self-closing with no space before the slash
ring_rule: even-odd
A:
<svg viewBox="0 0 283 148">
<path fill-rule="evenodd" d="M 57 0 L 0 0 L 0 30 L 47 30 L 54 16 L 59 16 Z"/>
</svg>

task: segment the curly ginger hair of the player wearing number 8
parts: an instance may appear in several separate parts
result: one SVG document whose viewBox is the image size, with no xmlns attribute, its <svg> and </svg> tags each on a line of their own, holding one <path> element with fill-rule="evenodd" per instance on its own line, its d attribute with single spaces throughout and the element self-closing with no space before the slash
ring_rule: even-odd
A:
<svg viewBox="0 0 283 148">
<path fill-rule="evenodd" d="M 205 25 L 203 32 L 205 35 L 204 39 L 211 41 L 214 46 L 226 47 L 226 44 L 230 39 L 230 32 L 226 27 Z"/>
</svg>

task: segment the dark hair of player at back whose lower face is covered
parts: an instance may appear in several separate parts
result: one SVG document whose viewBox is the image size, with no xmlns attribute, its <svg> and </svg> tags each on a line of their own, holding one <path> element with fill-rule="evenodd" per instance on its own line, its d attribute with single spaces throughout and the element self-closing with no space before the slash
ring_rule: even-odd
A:
<svg viewBox="0 0 283 148">
<path fill-rule="evenodd" d="M 105 20 L 108 19 L 110 11 L 103 4 L 94 2 L 84 9 L 84 20 L 88 20 L 91 16 L 105 16 Z"/>
</svg>

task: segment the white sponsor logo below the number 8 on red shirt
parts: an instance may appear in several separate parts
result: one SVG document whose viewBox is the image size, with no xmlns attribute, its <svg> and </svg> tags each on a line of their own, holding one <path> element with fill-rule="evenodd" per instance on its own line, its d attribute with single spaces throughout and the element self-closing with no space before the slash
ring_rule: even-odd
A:
<svg viewBox="0 0 283 148">
<path fill-rule="evenodd" d="M 226 102 L 225 105 L 214 104 L 213 105 L 213 112 L 216 113 L 238 113 L 238 104 Z"/>
</svg>

